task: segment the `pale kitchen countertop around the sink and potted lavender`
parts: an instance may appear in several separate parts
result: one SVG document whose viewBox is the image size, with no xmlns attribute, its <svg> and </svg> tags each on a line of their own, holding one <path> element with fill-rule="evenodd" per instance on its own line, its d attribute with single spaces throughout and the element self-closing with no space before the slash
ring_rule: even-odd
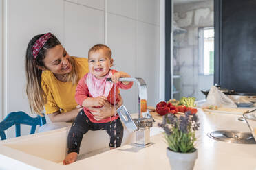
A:
<svg viewBox="0 0 256 170">
<path fill-rule="evenodd" d="M 199 108 L 198 116 L 200 130 L 196 134 L 198 136 L 198 159 L 195 162 L 195 169 L 247 170 L 256 168 L 256 145 L 225 143 L 215 141 L 207 136 L 207 133 L 213 130 L 249 132 L 244 121 L 237 121 L 239 115 L 204 113 Z M 154 133 L 151 134 L 156 135 L 151 136 L 153 145 L 149 147 L 123 145 L 118 149 L 78 160 L 71 165 L 61 165 L 25 154 L 0 143 L 0 169 L 8 167 L 2 166 L 3 162 L 5 162 L 4 164 L 16 163 L 19 169 L 170 169 L 166 156 L 167 144 L 163 135 L 156 127 L 152 131 Z M 40 136 L 41 134 L 36 135 Z M 19 158 L 19 156 L 23 156 L 23 158 Z M 16 161 L 17 158 L 19 161 Z"/>
</svg>

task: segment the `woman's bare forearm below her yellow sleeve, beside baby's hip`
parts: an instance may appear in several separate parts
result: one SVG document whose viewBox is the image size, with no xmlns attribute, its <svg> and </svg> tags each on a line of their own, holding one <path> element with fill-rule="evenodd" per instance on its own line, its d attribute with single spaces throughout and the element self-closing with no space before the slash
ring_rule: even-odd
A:
<svg viewBox="0 0 256 170">
<path fill-rule="evenodd" d="M 74 119 L 76 119 L 78 112 L 79 108 L 75 108 L 70 112 L 54 112 L 52 114 L 48 114 L 48 117 L 52 122 L 72 122 Z"/>
</svg>

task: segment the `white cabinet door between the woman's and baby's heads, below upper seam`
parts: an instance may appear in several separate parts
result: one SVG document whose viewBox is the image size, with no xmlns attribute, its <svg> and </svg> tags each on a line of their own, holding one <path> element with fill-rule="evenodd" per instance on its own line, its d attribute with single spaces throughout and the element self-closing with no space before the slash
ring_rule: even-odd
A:
<svg viewBox="0 0 256 170">
<path fill-rule="evenodd" d="M 104 12 L 65 1 L 65 48 L 72 56 L 85 57 L 89 48 L 104 43 Z"/>
</svg>

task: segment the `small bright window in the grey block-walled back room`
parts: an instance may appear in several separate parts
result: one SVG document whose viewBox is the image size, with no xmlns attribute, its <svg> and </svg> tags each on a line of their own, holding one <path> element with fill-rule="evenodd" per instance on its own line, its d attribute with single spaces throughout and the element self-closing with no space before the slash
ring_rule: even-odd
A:
<svg viewBox="0 0 256 170">
<path fill-rule="evenodd" d="M 198 73 L 213 75 L 214 73 L 214 29 L 204 27 L 198 30 Z"/>
</svg>

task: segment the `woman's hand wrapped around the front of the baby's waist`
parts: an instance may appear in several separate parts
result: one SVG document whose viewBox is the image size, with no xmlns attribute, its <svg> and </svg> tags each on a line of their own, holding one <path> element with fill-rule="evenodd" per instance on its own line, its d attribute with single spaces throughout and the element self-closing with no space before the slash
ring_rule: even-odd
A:
<svg viewBox="0 0 256 170">
<path fill-rule="evenodd" d="M 116 109 L 123 104 L 122 96 L 119 94 L 120 100 L 116 108 L 111 105 L 108 101 L 105 102 L 105 105 L 102 108 L 89 108 L 91 113 L 94 115 L 94 118 L 97 120 L 105 119 L 107 117 L 114 116 Z"/>
</svg>

